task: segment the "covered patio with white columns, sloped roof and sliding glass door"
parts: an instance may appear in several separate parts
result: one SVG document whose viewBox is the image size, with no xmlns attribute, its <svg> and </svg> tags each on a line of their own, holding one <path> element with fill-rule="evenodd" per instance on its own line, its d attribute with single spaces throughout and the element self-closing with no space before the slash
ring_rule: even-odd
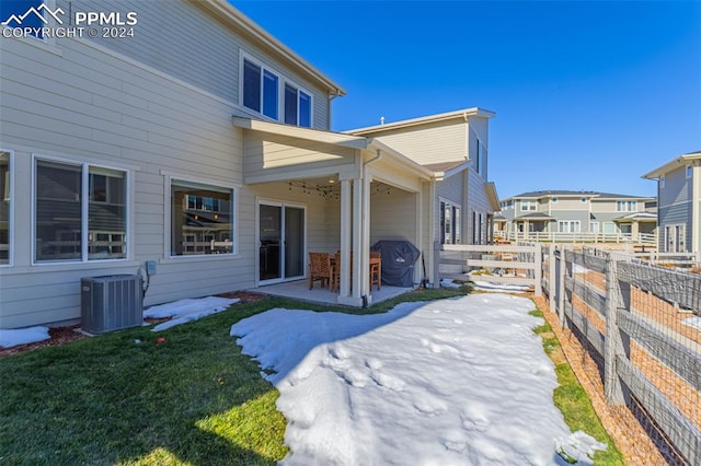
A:
<svg viewBox="0 0 701 466">
<path fill-rule="evenodd" d="M 405 240 L 433 254 L 430 170 L 370 138 L 241 117 L 233 125 L 244 130 L 244 183 L 256 199 L 257 291 L 359 307 L 407 290 L 371 289 L 370 246 Z M 337 292 L 306 286 L 312 252 L 340 253 Z"/>
</svg>

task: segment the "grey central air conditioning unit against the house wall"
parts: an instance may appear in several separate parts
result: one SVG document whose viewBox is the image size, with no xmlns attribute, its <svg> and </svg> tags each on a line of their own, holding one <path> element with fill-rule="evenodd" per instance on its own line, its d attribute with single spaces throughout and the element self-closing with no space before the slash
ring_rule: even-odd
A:
<svg viewBox="0 0 701 466">
<path fill-rule="evenodd" d="M 138 275 L 83 278 L 81 326 L 90 334 L 104 334 L 143 323 L 143 293 Z"/>
</svg>

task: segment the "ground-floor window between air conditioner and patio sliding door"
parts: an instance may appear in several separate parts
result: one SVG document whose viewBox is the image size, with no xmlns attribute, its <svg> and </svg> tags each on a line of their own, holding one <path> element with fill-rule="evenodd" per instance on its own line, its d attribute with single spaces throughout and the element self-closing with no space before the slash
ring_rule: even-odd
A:
<svg viewBox="0 0 701 466">
<path fill-rule="evenodd" d="M 171 182 L 171 256 L 233 254 L 233 190 Z"/>
</svg>

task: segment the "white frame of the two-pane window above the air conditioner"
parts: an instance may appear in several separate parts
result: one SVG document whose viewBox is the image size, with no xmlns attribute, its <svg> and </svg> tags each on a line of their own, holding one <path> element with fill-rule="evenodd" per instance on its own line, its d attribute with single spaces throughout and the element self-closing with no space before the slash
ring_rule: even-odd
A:
<svg viewBox="0 0 701 466">
<path fill-rule="evenodd" d="M 37 260 L 36 259 L 36 188 L 37 188 L 37 179 L 36 179 L 36 165 L 39 161 L 46 162 L 55 162 L 59 164 L 70 165 L 70 166 L 80 166 L 80 191 L 81 191 L 81 201 L 80 201 L 80 242 L 81 242 L 81 251 L 80 251 L 80 259 L 69 259 L 69 260 Z M 123 172 L 125 177 L 124 189 L 125 189 L 125 237 L 124 237 L 124 247 L 125 254 L 124 257 L 118 258 L 106 258 L 106 259 L 90 259 L 90 244 L 89 244 L 89 219 L 90 219 L 90 167 L 94 168 L 105 168 L 113 170 L 116 172 Z M 53 155 L 44 155 L 38 153 L 32 154 L 32 266 L 45 267 L 45 266 L 55 266 L 55 265 L 76 265 L 76 264 L 115 264 L 128 261 L 131 257 L 131 236 L 133 236 L 133 222 L 131 222 L 131 179 L 134 178 L 134 173 L 131 170 L 126 168 L 124 166 L 115 166 L 108 165 L 104 163 L 93 163 L 85 162 L 81 160 L 71 160 L 66 158 L 57 158 Z"/>
</svg>

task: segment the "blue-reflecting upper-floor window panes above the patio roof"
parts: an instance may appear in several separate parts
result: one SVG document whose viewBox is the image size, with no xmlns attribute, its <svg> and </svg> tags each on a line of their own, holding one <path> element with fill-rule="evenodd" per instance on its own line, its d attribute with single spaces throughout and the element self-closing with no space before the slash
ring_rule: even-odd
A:
<svg viewBox="0 0 701 466">
<path fill-rule="evenodd" d="M 243 58 L 242 74 L 244 107 L 288 125 L 311 128 L 311 93 L 248 57 Z"/>
</svg>

